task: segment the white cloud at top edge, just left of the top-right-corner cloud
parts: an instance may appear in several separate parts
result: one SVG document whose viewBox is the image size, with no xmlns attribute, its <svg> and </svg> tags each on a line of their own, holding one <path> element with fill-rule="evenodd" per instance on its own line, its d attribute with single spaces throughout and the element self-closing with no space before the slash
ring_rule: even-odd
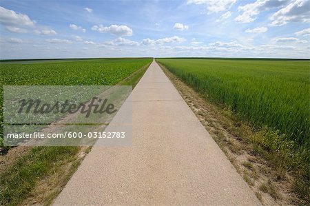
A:
<svg viewBox="0 0 310 206">
<path fill-rule="evenodd" d="M 260 12 L 271 8 L 280 8 L 287 3 L 288 0 L 256 0 L 254 3 L 247 3 L 244 6 L 239 6 L 238 11 L 242 12 L 235 18 L 236 22 L 250 23 L 255 21 L 256 15 Z"/>
</svg>

